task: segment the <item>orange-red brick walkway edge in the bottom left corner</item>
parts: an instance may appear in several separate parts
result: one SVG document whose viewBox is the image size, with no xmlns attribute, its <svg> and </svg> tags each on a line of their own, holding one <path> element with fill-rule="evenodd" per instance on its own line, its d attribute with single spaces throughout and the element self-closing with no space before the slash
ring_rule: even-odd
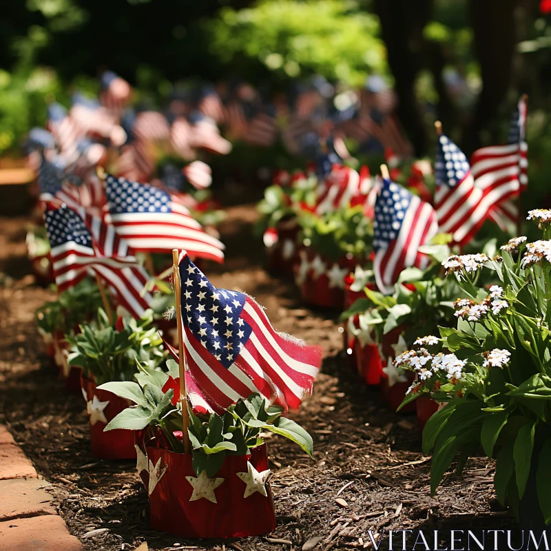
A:
<svg viewBox="0 0 551 551">
<path fill-rule="evenodd" d="M 0 425 L 0 551 L 83 551 L 37 471 Z"/>
</svg>

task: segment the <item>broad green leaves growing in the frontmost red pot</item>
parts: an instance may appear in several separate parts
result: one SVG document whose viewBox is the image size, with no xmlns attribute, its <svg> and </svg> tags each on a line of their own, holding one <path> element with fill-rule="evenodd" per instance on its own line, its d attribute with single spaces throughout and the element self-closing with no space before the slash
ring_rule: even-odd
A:
<svg viewBox="0 0 551 551">
<path fill-rule="evenodd" d="M 167 373 L 154 371 L 138 362 L 137 383 L 108 382 L 100 386 L 136 404 L 119 413 L 105 430 L 141 430 L 146 426 L 156 426 L 163 431 L 172 450 L 183 453 L 183 444 L 176 437 L 183 430 L 178 364 L 167 360 L 167 370 Z M 310 435 L 291 419 L 282 417 L 282 411 L 280 406 L 268 406 L 258 394 L 240 399 L 222 415 L 195 415 L 188 407 L 188 433 L 196 474 L 205 470 L 207 476 L 213 477 L 226 455 L 246 455 L 250 448 L 260 446 L 262 431 L 291 439 L 313 457 Z"/>
</svg>

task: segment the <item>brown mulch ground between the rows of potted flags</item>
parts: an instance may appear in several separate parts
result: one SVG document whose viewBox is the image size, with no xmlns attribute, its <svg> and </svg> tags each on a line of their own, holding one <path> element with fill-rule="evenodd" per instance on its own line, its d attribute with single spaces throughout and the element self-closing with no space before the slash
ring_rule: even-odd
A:
<svg viewBox="0 0 551 551">
<path fill-rule="evenodd" d="M 269 437 L 277 528 L 225 547 L 297 549 L 318 537 L 316 549 L 327 551 L 364 548 L 368 530 L 514 527 L 495 500 L 494 468 L 486 458 L 470 459 L 462 477 L 448 473 L 437 497 L 430 497 L 430 459 L 421 453 L 415 417 L 396 415 L 376 390 L 358 384 L 341 351 L 338 313 L 305 309 L 293 284 L 262 269 L 260 242 L 251 233 L 255 218 L 252 206 L 229 209 L 222 227 L 228 260 L 208 273 L 220 287 L 255 296 L 276 329 L 324 347 L 313 396 L 292 415 L 313 435 L 316 459 L 290 441 Z M 28 220 L 0 223 L 0 423 L 52 483 L 49 491 L 70 532 L 94 551 L 133 550 L 143 541 L 157 550 L 222 549 L 222 542 L 185 541 L 151 530 L 147 494 L 133 462 L 92 457 L 83 399 L 65 390 L 34 324 L 34 309 L 53 293 L 27 275 Z"/>
</svg>

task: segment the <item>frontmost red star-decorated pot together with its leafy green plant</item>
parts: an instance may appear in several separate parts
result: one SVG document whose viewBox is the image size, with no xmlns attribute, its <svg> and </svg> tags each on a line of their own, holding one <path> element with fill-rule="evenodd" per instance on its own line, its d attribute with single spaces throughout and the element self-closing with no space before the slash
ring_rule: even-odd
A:
<svg viewBox="0 0 551 551">
<path fill-rule="evenodd" d="M 275 528 L 267 449 L 261 433 L 287 437 L 312 457 L 313 442 L 258 394 L 207 413 L 185 406 L 191 454 L 182 444 L 178 364 L 168 372 L 140 366 L 136 382 L 99 387 L 134 402 L 105 427 L 136 430 L 137 469 L 149 494 L 152 528 L 180 537 L 229 538 Z M 187 379 L 187 377 L 186 377 Z M 189 384 L 188 384 L 189 386 Z M 187 402 L 184 402 L 187 404 Z"/>
</svg>

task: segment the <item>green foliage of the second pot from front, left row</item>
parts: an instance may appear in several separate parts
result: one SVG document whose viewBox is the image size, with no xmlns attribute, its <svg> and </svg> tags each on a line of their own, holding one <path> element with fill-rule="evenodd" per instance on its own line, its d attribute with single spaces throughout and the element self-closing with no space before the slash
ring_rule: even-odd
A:
<svg viewBox="0 0 551 551">
<path fill-rule="evenodd" d="M 112 326 L 99 309 L 97 320 L 81 324 L 81 333 L 66 335 L 71 348 L 67 363 L 80 366 L 97 384 L 108 381 L 129 381 L 134 377 L 136 361 L 157 368 L 166 352 L 148 310 L 141 320 L 121 320 Z"/>
</svg>

